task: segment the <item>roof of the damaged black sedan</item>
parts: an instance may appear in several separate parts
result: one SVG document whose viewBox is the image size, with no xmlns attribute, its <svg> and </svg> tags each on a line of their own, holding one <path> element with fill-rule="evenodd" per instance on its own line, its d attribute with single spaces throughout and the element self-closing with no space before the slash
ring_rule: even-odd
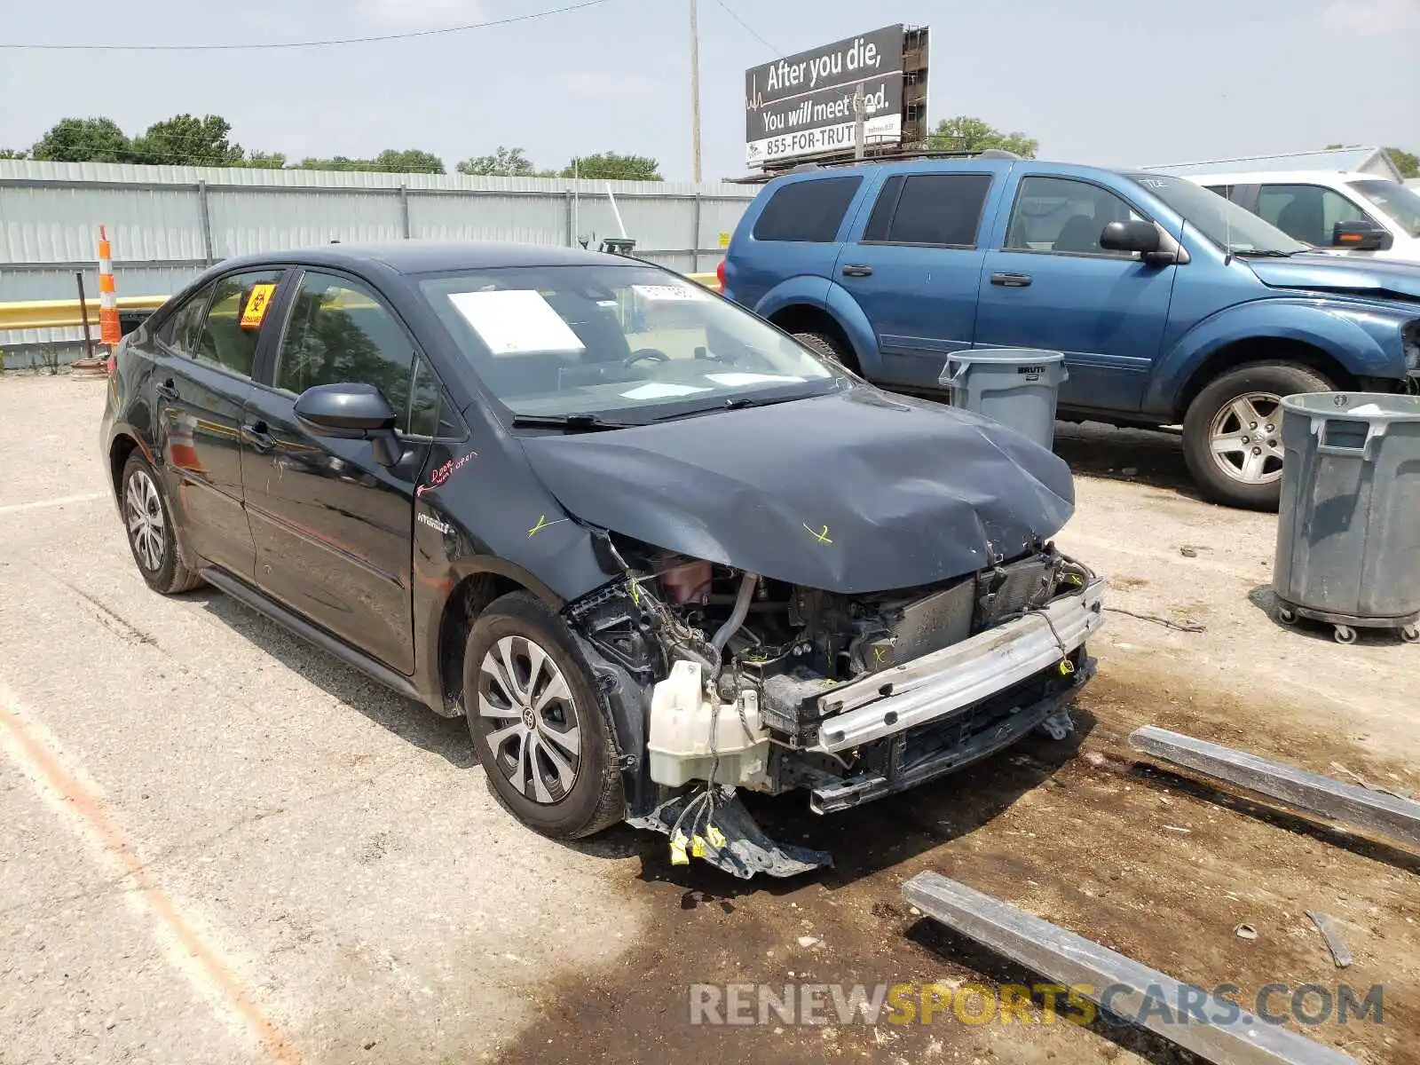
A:
<svg viewBox="0 0 1420 1065">
<path fill-rule="evenodd" d="M 369 244 L 317 244 L 230 258 L 223 267 L 248 263 L 301 263 L 359 267 L 379 263 L 400 274 L 530 266 L 645 266 L 640 260 L 547 244 L 479 243 L 471 240 L 389 240 Z"/>
</svg>

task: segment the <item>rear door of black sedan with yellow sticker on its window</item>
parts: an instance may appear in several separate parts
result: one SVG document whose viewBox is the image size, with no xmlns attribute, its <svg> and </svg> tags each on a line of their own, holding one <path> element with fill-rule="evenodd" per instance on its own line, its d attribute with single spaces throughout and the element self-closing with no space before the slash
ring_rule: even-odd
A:
<svg viewBox="0 0 1420 1065">
<path fill-rule="evenodd" d="M 189 297 L 153 341 L 155 443 L 185 542 L 247 579 L 254 545 L 241 507 L 241 409 L 267 332 L 264 308 L 283 274 L 246 270 L 217 278 Z"/>
</svg>

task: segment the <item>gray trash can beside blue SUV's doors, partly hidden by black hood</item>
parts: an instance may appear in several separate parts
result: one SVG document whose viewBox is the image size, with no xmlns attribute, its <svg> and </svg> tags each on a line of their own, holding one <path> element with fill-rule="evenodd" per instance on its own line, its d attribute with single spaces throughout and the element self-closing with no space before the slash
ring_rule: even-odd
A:
<svg viewBox="0 0 1420 1065">
<path fill-rule="evenodd" d="M 951 389 L 951 406 L 985 415 L 1041 447 L 1052 447 L 1055 400 L 1068 378 L 1058 351 L 983 348 L 950 356 L 937 383 Z"/>
</svg>

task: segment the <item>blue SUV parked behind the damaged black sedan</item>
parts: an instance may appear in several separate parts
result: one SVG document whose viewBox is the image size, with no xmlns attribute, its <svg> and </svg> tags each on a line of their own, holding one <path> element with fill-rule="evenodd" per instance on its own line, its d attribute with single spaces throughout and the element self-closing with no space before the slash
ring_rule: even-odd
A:
<svg viewBox="0 0 1420 1065">
<path fill-rule="evenodd" d="M 808 168 L 740 220 L 724 293 L 869 381 L 1064 351 L 1061 416 L 1183 423 L 1214 500 L 1275 508 L 1282 396 L 1420 386 L 1420 268 L 1316 253 L 1207 189 L 1021 159 Z"/>
</svg>

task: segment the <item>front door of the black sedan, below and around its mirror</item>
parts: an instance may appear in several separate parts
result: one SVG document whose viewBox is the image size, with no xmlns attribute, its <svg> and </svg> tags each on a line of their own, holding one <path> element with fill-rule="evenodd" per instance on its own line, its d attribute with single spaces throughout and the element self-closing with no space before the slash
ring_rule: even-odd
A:
<svg viewBox="0 0 1420 1065">
<path fill-rule="evenodd" d="M 301 392 L 346 382 L 375 385 L 399 415 L 393 466 L 376 462 L 369 440 L 315 436 L 297 419 Z M 415 484 L 430 447 L 412 427 L 429 420 L 423 408 L 439 395 L 383 297 L 355 277 L 304 270 L 243 426 L 257 586 L 406 676 Z"/>
</svg>

